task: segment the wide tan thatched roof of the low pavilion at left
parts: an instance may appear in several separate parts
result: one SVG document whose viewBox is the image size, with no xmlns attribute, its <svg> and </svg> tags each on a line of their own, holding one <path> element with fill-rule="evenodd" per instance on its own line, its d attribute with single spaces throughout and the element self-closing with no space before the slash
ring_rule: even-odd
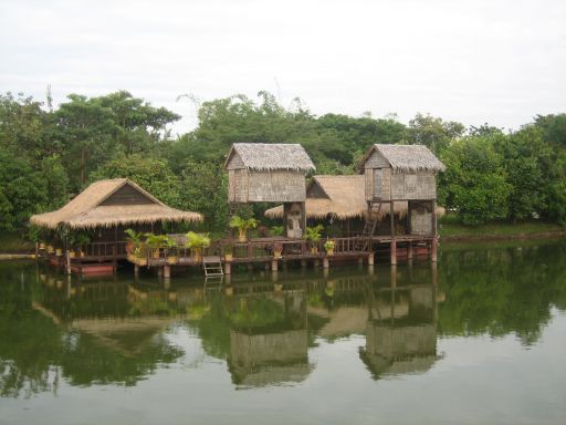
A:
<svg viewBox="0 0 566 425">
<path fill-rule="evenodd" d="M 137 190 L 145 203 L 102 205 L 126 185 Z M 127 178 L 116 178 L 93 183 L 64 207 L 56 211 L 32 216 L 30 221 L 33 225 L 51 229 L 59 226 L 80 229 L 156 221 L 202 221 L 202 216 L 198 212 L 168 207 L 134 182 Z"/>
</svg>

